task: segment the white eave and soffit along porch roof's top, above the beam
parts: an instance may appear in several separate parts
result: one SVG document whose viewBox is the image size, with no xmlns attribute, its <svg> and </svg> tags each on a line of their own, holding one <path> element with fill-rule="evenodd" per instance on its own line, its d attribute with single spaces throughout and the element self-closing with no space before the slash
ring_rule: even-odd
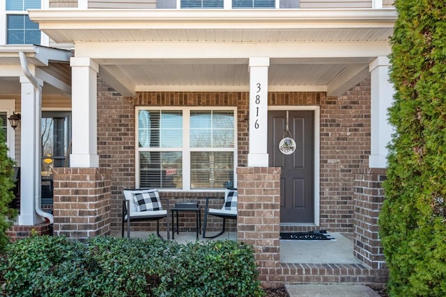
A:
<svg viewBox="0 0 446 297">
<path fill-rule="evenodd" d="M 385 41 L 392 9 L 29 10 L 56 42 Z"/>
</svg>

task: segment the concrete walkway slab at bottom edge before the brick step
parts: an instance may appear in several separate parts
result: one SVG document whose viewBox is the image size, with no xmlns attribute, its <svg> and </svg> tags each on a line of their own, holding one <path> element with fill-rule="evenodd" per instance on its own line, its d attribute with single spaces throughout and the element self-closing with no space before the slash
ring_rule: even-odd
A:
<svg viewBox="0 0 446 297">
<path fill-rule="evenodd" d="M 290 297 L 380 297 L 360 284 L 285 284 Z"/>
</svg>

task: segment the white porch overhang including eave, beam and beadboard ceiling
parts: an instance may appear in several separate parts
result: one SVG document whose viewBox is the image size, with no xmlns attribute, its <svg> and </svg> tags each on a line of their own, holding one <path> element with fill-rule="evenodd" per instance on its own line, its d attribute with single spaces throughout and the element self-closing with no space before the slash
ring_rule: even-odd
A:
<svg viewBox="0 0 446 297">
<path fill-rule="evenodd" d="M 341 95 L 390 53 L 395 10 L 30 10 L 119 93 L 248 90 L 249 57 L 269 89 Z"/>
</svg>

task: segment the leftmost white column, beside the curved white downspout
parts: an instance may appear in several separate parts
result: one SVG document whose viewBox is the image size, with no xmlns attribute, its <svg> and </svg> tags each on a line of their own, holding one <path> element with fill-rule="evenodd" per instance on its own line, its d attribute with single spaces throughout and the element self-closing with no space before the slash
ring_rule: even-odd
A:
<svg viewBox="0 0 446 297">
<path fill-rule="evenodd" d="M 36 214 L 36 200 L 40 201 L 40 119 L 42 111 L 42 81 L 40 92 L 26 77 L 20 77 L 22 86 L 21 161 L 20 166 L 20 216 L 19 225 L 33 226 L 42 222 Z"/>
</svg>

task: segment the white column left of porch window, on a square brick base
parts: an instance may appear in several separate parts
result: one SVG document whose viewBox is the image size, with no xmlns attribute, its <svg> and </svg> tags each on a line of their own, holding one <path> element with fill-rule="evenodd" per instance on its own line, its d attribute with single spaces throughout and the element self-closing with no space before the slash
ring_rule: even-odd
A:
<svg viewBox="0 0 446 297">
<path fill-rule="evenodd" d="M 99 167 L 97 141 L 97 80 L 99 65 L 88 57 L 73 57 L 72 154 L 70 167 Z"/>
</svg>

